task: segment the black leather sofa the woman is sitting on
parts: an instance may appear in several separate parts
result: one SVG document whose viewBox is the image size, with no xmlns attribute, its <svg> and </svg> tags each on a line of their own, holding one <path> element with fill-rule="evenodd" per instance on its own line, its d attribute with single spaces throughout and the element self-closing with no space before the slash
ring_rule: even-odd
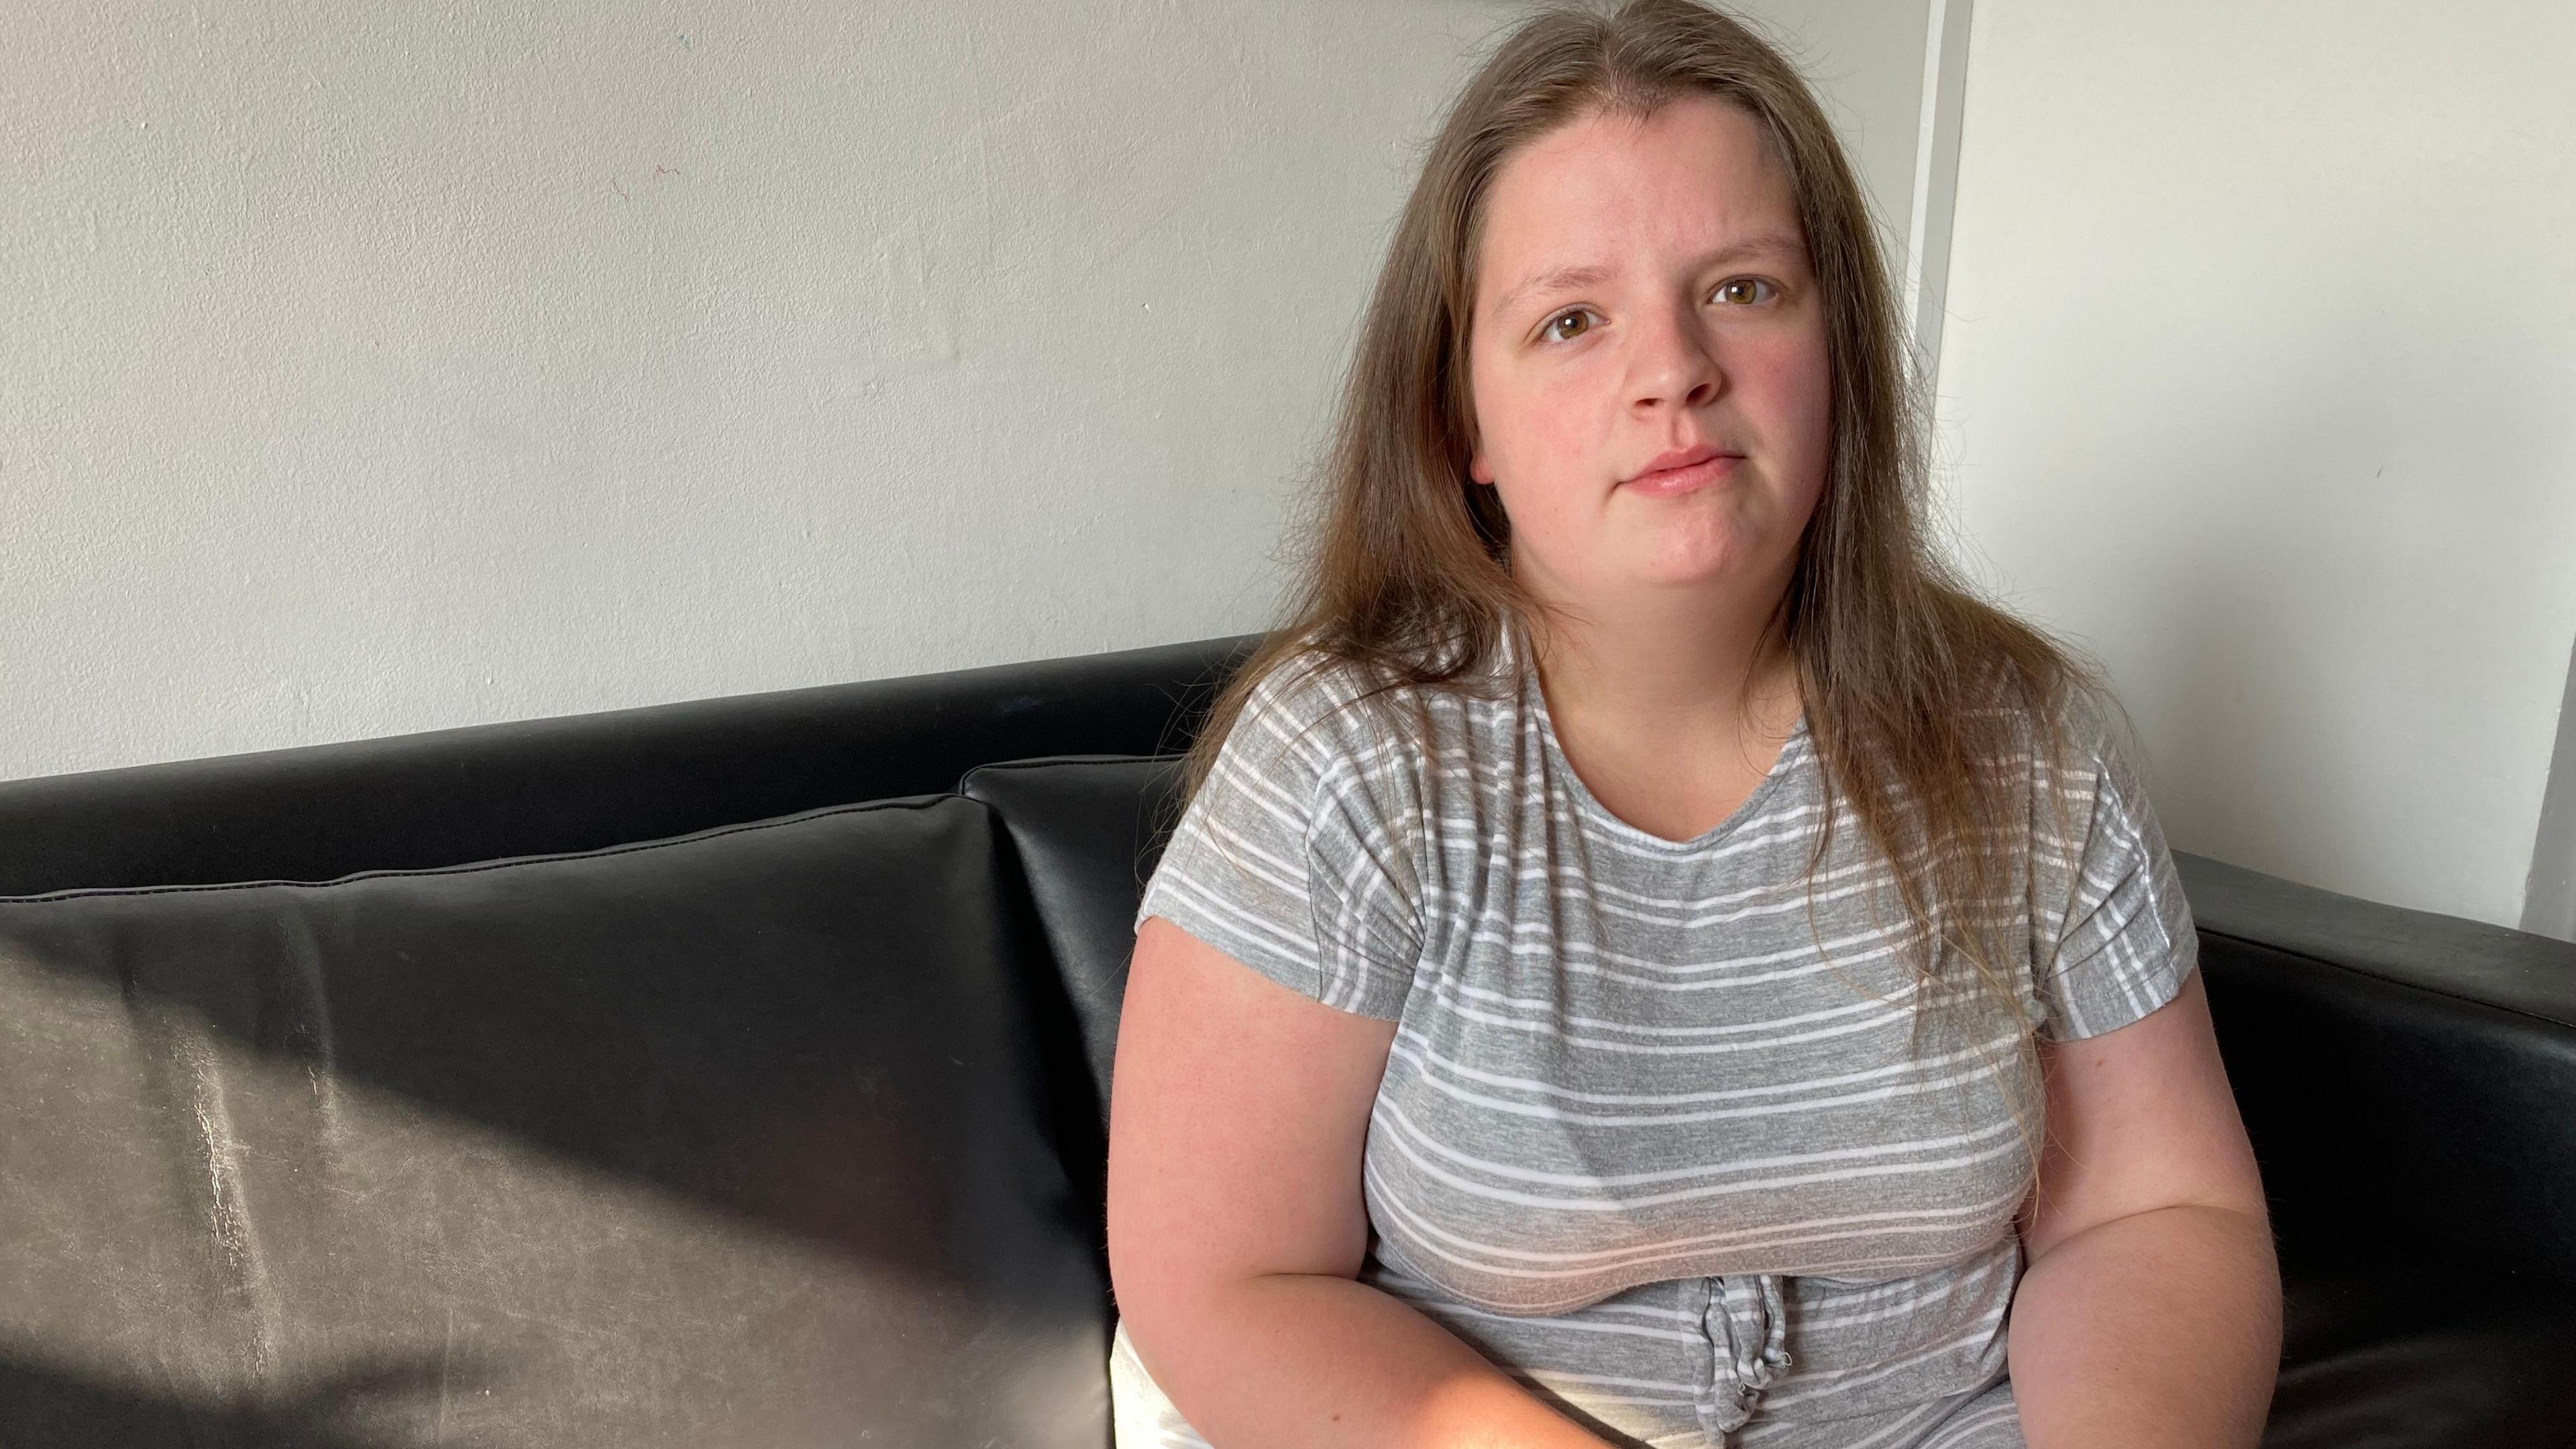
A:
<svg viewBox="0 0 2576 1449">
<path fill-rule="evenodd" d="M 1249 645 L 0 784 L 0 1444 L 1108 1444 L 1128 918 Z M 2267 1444 L 2576 1444 L 2576 946 L 2182 871 Z"/>
</svg>

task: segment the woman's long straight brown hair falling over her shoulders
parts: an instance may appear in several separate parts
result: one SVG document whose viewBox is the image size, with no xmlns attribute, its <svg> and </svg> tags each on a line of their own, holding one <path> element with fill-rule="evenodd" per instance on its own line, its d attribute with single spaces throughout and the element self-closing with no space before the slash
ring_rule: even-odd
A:
<svg viewBox="0 0 2576 1449">
<path fill-rule="evenodd" d="M 1363 699 L 1476 688 L 1502 629 L 1533 624 L 1538 601 L 1510 570 L 1499 495 L 1466 474 L 1486 201 L 1502 165 L 1538 137 L 1600 111 L 1643 119 L 1687 95 L 1716 95 L 1762 126 L 1798 199 L 1826 317 L 1832 456 L 1772 616 L 1834 786 L 1806 861 L 1808 905 L 1839 792 L 1891 866 L 1891 938 L 1919 987 L 1917 1049 L 1932 1008 L 1953 1008 L 1945 1016 L 1968 1042 L 1986 1039 L 1991 1026 L 1976 1021 L 2002 1011 L 2020 1044 L 2009 1065 L 2027 1073 L 2007 1101 L 2038 1163 L 2035 1021 L 2014 987 L 2027 938 L 2012 936 L 2032 833 L 2027 750 L 2056 761 L 2069 701 L 2107 691 L 2071 650 L 1976 598 L 1937 552 L 1924 382 L 1909 366 L 1860 183 L 1798 72 L 1718 10 L 1692 0 L 1631 0 L 1610 15 L 1561 5 L 1512 31 L 1458 95 L 1360 322 L 1293 531 L 1303 559 L 1285 621 L 1218 691 L 1182 766 L 1185 789 L 1208 779 L 1247 696 L 1283 665 L 1355 665 L 1370 681 Z"/>
</svg>

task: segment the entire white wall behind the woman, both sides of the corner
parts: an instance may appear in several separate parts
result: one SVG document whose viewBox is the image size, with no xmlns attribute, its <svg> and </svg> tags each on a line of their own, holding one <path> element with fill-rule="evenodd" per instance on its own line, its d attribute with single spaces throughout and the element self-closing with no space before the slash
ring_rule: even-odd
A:
<svg viewBox="0 0 2576 1449">
<path fill-rule="evenodd" d="M 1419 144 L 1520 13 L 0 8 L 0 779 L 1260 627 Z M 1901 240 L 1924 0 L 1749 13 Z M 1955 518 L 2107 657 L 2179 848 L 2522 905 L 2571 31 L 1976 5 Z"/>
</svg>

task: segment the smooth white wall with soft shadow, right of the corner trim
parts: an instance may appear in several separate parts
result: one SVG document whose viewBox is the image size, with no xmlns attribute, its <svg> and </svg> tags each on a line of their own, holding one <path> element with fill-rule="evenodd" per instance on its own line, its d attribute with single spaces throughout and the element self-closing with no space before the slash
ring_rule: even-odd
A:
<svg viewBox="0 0 2576 1449">
<path fill-rule="evenodd" d="M 1978 0 L 1965 552 L 2172 843 L 2522 913 L 2576 639 L 2576 8 Z"/>
</svg>

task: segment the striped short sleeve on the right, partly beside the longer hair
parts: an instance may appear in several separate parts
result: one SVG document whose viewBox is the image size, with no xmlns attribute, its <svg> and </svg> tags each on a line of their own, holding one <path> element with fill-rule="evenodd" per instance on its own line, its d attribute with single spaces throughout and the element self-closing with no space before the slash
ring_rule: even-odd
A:
<svg viewBox="0 0 2576 1449">
<path fill-rule="evenodd" d="M 2050 1042 L 2138 1021 L 2200 962 L 2156 812 L 2089 706 L 2071 719 L 2069 761 L 2038 771 L 2030 833 L 2032 987 Z"/>
</svg>

